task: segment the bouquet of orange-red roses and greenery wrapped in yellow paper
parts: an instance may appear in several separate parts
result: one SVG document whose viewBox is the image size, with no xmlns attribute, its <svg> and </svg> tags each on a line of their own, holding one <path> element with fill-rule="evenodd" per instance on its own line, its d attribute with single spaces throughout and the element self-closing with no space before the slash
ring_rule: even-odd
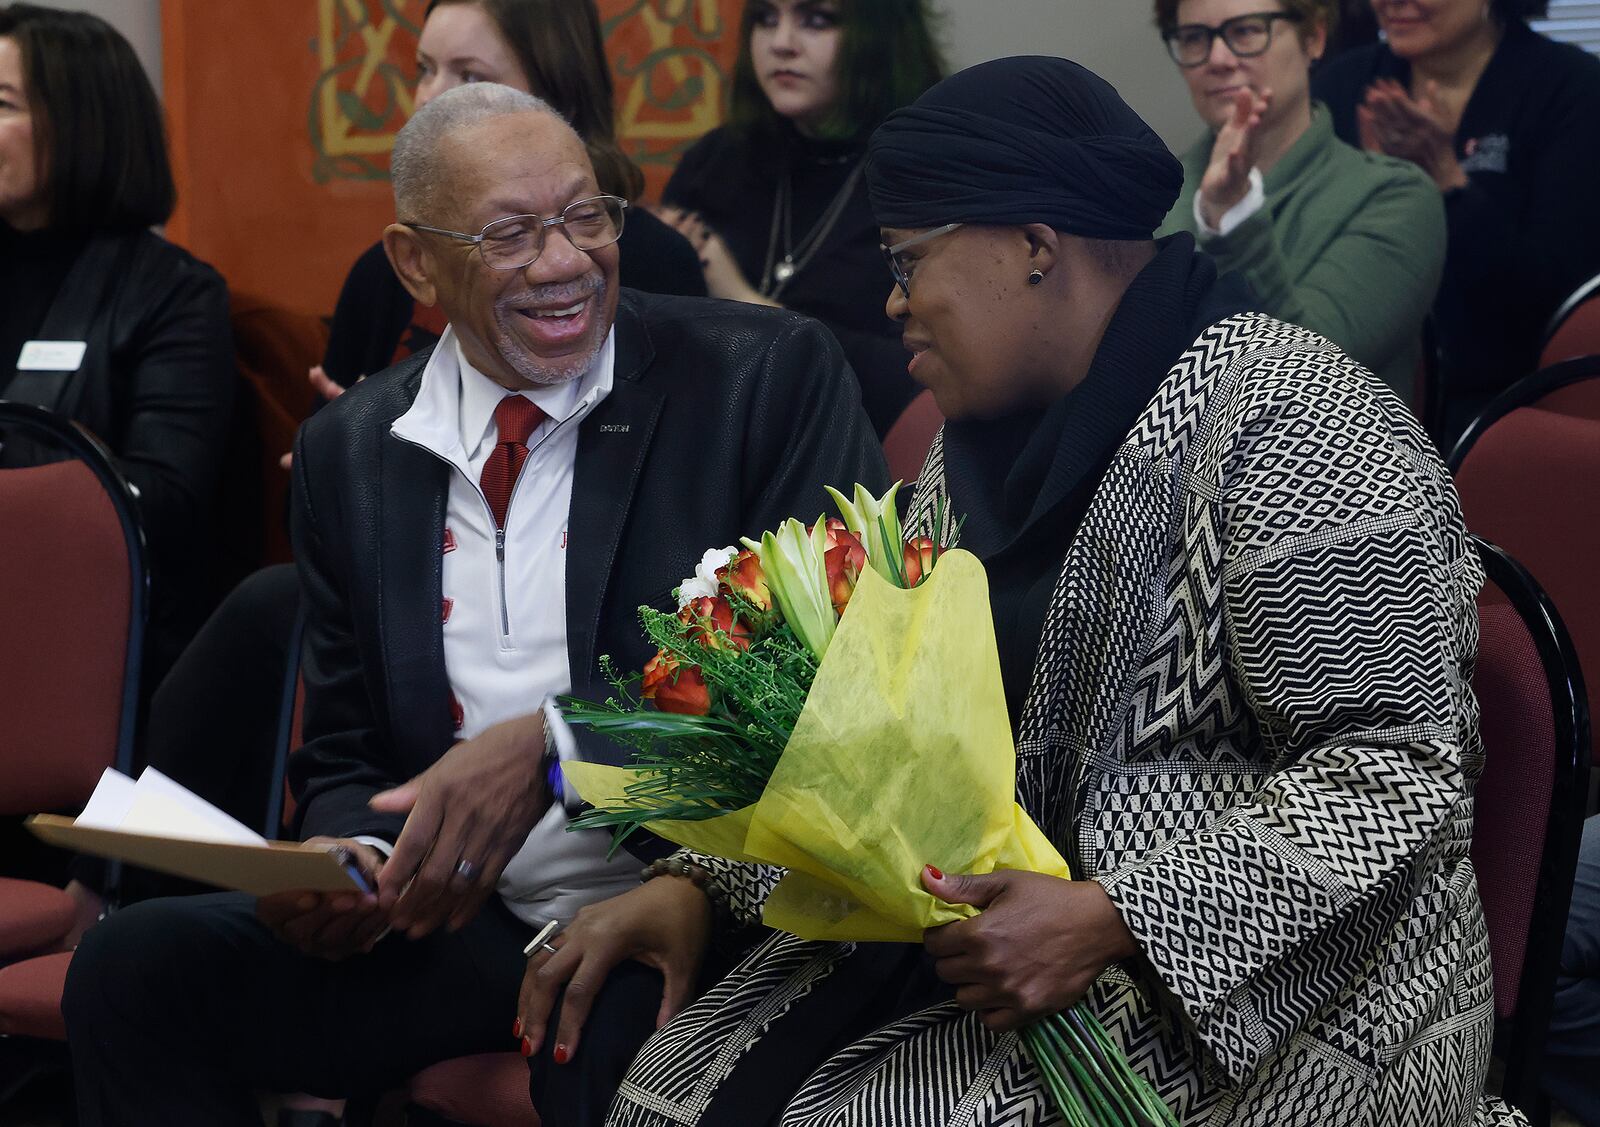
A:
<svg viewBox="0 0 1600 1127">
<path fill-rule="evenodd" d="M 658 647 L 640 698 L 566 701 L 571 724 L 634 749 L 565 764 L 574 826 L 637 826 L 714 856 L 787 869 L 766 925 L 806 940 L 922 943 L 976 914 L 920 884 L 947 872 L 1067 877 L 1016 804 L 1016 754 L 989 588 L 968 552 L 906 538 L 896 485 L 829 490 L 842 519 L 789 520 L 706 554 L 680 610 L 640 608 Z M 944 514 L 934 514 L 944 528 Z M 1022 1042 L 1070 1127 L 1176 1127 L 1085 1005 Z"/>
</svg>

